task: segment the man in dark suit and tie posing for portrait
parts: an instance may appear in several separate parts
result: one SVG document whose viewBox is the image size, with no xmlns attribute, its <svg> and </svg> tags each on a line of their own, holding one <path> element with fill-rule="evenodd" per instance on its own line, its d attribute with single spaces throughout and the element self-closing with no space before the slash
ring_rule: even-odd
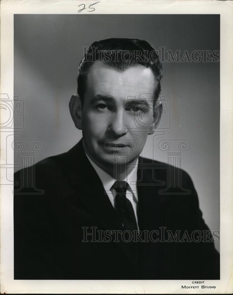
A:
<svg viewBox="0 0 233 295">
<path fill-rule="evenodd" d="M 160 121 L 161 78 L 146 41 L 89 47 L 70 100 L 83 139 L 33 167 L 43 195 L 21 189 L 32 170 L 15 174 L 15 279 L 219 279 L 191 178 L 140 157 Z M 171 169 L 187 194 L 161 194 Z"/>
</svg>

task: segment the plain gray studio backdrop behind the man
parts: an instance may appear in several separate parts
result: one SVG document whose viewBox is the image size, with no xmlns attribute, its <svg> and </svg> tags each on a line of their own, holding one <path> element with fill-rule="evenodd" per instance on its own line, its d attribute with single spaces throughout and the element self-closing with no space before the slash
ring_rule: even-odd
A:
<svg viewBox="0 0 233 295">
<path fill-rule="evenodd" d="M 144 39 L 155 49 L 180 50 L 181 55 L 185 50 L 219 50 L 219 25 L 219 15 L 14 15 L 14 96 L 24 102 L 24 128 L 14 138 L 44 143 L 35 152 L 36 162 L 79 141 L 81 131 L 68 103 L 76 93 L 82 47 L 122 37 Z M 161 96 L 170 109 L 163 114 L 162 127 L 169 127 L 169 113 L 170 128 L 159 130 L 165 135 L 150 135 L 143 150 L 144 157 L 167 162 L 167 151 L 158 148 L 160 140 L 190 142 L 190 149 L 182 152 L 182 168 L 194 182 L 212 231 L 219 230 L 219 83 L 219 62 L 163 62 Z M 17 120 L 22 118 L 16 117 L 16 127 Z M 15 152 L 14 163 L 20 163 L 20 152 Z"/>
</svg>

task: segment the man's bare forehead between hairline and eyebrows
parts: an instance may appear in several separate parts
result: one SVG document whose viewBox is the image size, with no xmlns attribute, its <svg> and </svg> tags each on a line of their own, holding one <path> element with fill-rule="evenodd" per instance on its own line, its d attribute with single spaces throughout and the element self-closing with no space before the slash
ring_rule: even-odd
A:
<svg viewBox="0 0 233 295">
<path fill-rule="evenodd" d="M 155 86 L 152 70 L 140 64 L 119 70 L 103 62 L 95 62 L 88 73 L 88 89 L 93 91 L 108 90 L 138 96 L 139 93 L 153 93 Z"/>
</svg>

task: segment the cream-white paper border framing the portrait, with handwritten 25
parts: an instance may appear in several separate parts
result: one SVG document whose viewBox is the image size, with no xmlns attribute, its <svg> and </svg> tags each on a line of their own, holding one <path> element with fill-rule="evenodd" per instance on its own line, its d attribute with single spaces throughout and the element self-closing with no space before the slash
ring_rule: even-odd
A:
<svg viewBox="0 0 233 295">
<path fill-rule="evenodd" d="M 80 10 L 95 4 L 95 11 Z M 0 271 L 1 293 L 49 294 L 216 294 L 233 291 L 233 199 L 232 199 L 232 3 L 230 1 L 151 1 L 151 0 L 6 0 L 1 1 L 1 83 L 0 94 L 14 98 L 14 14 L 220 14 L 220 280 L 205 281 L 215 289 L 181 289 L 191 280 L 14 280 L 13 279 L 13 185 L 0 187 Z M 83 7 L 83 6 L 81 6 Z M 1 117 L 4 122 L 4 117 Z M 13 132 L 13 130 L 12 130 Z M 1 132 L 1 167 L 4 154 L 14 163 L 14 151 L 6 147 Z M 12 168 L 12 167 L 11 167 Z M 8 178 L 13 179 L 14 169 Z M 1 175 L 1 180 L 3 176 Z"/>
</svg>

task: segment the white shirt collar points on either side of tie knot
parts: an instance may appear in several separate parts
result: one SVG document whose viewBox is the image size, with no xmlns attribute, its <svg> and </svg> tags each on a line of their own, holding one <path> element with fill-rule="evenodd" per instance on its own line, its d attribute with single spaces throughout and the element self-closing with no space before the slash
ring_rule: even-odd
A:
<svg viewBox="0 0 233 295">
<path fill-rule="evenodd" d="M 84 145 L 83 145 L 84 146 Z M 84 151 L 86 153 L 85 147 L 84 147 Z M 113 184 L 115 183 L 116 179 L 111 177 L 111 175 L 109 175 L 108 173 L 106 173 L 103 169 L 99 168 L 99 166 L 97 166 L 87 155 L 86 156 L 89 160 L 89 162 L 91 163 L 91 165 L 93 166 L 93 168 L 95 169 L 96 173 L 98 174 L 105 191 L 110 191 L 111 187 L 113 186 Z M 124 179 L 124 181 L 126 181 L 129 184 L 130 189 L 135 192 L 137 191 L 137 165 L 138 165 L 138 159 L 137 159 L 137 163 L 135 165 L 135 167 L 132 169 L 132 171 L 129 173 L 129 175 Z"/>
</svg>

